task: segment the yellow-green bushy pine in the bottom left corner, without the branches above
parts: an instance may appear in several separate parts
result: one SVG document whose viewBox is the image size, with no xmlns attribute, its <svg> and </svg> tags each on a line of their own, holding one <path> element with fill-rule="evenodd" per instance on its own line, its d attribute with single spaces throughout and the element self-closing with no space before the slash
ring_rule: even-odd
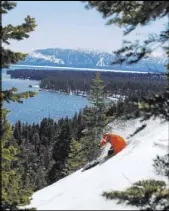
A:
<svg viewBox="0 0 169 211">
<path fill-rule="evenodd" d="M 2 111 L 1 126 L 2 208 L 16 209 L 18 205 L 29 203 L 29 198 L 33 192 L 29 187 L 23 185 L 22 172 L 17 159 L 19 147 L 12 138 L 12 129 L 6 120 L 5 110 Z"/>
</svg>

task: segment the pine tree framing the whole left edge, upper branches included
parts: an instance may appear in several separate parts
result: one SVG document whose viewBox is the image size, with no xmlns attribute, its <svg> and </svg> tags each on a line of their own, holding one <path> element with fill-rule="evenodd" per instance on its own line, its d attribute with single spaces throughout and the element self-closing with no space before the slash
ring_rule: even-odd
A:
<svg viewBox="0 0 169 211">
<path fill-rule="evenodd" d="M 0 13 L 6 14 L 8 11 L 16 7 L 16 3 L 12 1 L 2 1 Z M 29 32 L 34 31 L 35 20 L 30 16 L 25 18 L 25 23 L 12 26 L 11 24 L 2 27 L 1 25 L 1 42 L 9 45 L 9 39 L 22 40 L 29 37 Z M 1 46 L 1 69 L 15 64 L 20 59 L 24 59 L 26 55 L 22 53 L 12 52 Z M 13 138 L 13 131 L 10 123 L 6 119 L 9 111 L 3 108 L 3 102 L 19 102 L 22 98 L 33 97 L 35 92 L 16 93 L 17 89 L 1 90 L 1 152 L 2 152 L 2 208 L 17 209 L 18 206 L 29 203 L 32 190 L 28 186 L 24 186 L 23 172 L 19 166 L 18 155 L 20 153 L 19 146 Z M 19 131 L 18 131 L 19 132 Z M 17 133 L 17 135 L 19 135 Z"/>
</svg>

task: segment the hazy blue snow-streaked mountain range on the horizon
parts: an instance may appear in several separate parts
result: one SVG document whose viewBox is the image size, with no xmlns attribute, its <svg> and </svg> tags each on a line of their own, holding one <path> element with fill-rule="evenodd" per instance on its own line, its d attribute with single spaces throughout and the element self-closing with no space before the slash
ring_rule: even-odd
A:
<svg viewBox="0 0 169 211">
<path fill-rule="evenodd" d="M 18 64 L 164 72 L 164 65 L 167 62 L 167 58 L 154 56 L 132 65 L 112 65 L 113 60 L 113 54 L 107 52 L 49 48 L 31 52 L 24 61 L 20 61 Z"/>
</svg>

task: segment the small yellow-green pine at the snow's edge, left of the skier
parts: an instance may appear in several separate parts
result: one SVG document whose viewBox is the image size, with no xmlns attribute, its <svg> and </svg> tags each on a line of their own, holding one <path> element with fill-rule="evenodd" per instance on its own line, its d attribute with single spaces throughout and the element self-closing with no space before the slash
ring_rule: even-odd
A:
<svg viewBox="0 0 169 211">
<path fill-rule="evenodd" d="M 68 158 L 65 163 L 65 167 L 63 169 L 64 176 L 67 176 L 79 168 L 81 168 L 85 163 L 85 158 L 81 151 L 81 144 L 76 140 L 72 139 L 70 144 L 70 150 L 68 154 Z"/>
</svg>

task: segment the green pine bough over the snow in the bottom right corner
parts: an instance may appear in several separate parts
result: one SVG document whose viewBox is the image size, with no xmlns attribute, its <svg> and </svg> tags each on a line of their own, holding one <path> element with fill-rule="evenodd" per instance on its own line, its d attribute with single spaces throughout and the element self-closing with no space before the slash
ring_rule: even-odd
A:
<svg viewBox="0 0 169 211">
<path fill-rule="evenodd" d="M 118 200 L 136 206 L 140 210 L 168 210 L 169 189 L 164 181 L 143 180 L 136 182 L 125 191 L 104 192 L 107 199 Z"/>
</svg>

